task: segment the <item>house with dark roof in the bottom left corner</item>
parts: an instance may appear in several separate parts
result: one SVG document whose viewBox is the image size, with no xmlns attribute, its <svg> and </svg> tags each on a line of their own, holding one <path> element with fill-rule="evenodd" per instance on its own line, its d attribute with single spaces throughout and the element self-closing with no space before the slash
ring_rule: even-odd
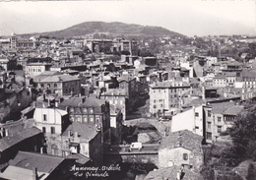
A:
<svg viewBox="0 0 256 180">
<path fill-rule="evenodd" d="M 19 151 L 0 179 L 13 180 L 68 180 L 74 177 L 70 171 L 75 158 L 53 156 L 45 153 Z"/>
</svg>

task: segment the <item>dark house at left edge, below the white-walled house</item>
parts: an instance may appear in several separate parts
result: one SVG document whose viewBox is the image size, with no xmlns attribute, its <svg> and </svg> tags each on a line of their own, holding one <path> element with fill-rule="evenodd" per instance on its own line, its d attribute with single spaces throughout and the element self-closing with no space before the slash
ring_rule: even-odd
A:
<svg viewBox="0 0 256 180">
<path fill-rule="evenodd" d="M 0 164 L 14 158 L 19 150 L 40 151 L 43 150 L 44 136 L 35 127 L 9 133 L 0 139 Z"/>
</svg>

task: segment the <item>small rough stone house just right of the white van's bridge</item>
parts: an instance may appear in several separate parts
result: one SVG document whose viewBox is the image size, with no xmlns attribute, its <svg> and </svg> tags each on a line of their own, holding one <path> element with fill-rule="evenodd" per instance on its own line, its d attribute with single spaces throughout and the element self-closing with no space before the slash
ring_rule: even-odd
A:
<svg viewBox="0 0 256 180">
<path fill-rule="evenodd" d="M 199 170 L 204 158 L 202 141 L 202 136 L 189 130 L 170 133 L 160 143 L 159 167 L 182 165 Z"/>
</svg>

